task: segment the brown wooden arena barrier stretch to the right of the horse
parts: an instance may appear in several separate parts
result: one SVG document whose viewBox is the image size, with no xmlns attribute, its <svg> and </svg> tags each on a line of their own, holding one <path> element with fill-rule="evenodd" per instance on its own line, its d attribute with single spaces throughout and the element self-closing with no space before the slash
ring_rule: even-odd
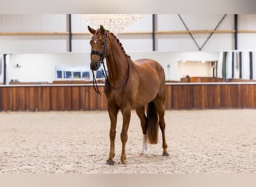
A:
<svg viewBox="0 0 256 187">
<path fill-rule="evenodd" d="M 167 85 L 166 108 L 256 108 L 255 83 Z"/>
</svg>

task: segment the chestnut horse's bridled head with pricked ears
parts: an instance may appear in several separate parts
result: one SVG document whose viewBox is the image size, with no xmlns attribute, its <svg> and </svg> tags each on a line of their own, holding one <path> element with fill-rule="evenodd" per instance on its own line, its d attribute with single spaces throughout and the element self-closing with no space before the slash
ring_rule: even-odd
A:
<svg viewBox="0 0 256 187">
<path fill-rule="evenodd" d="M 100 28 L 95 30 L 88 26 L 88 30 L 91 34 L 94 34 L 91 37 L 91 70 L 98 70 L 100 64 L 103 63 L 104 58 L 107 55 L 108 48 L 108 31 L 105 30 L 103 25 L 100 25 Z"/>
</svg>

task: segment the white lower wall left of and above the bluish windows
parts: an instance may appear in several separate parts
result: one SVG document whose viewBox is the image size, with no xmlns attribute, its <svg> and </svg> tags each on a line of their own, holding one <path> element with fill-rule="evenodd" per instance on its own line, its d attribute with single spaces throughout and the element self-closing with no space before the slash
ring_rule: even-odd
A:
<svg viewBox="0 0 256 187">
<path fill-rule="evenodd" d="M 7 64 L 7 82 L 52 82 L 55 66 L 82 66 L 89 64 L 89 60 L 89 54 L 13 54 Z"/>
</svg>

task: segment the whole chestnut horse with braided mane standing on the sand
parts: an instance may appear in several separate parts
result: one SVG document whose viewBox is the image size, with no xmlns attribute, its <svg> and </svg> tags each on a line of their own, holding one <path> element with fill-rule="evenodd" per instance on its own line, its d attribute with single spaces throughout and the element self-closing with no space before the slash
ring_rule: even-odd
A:
<svg viewBox="0 0 256 187">
<path fill-rule="evenodd" d="M 165 141 L 165 73 L 162 66 L 150 59 L 132 61 L 124 51 L 121 43 L 114 34 L 100 28 L 95 30 L 88 26 L 93 34 L 91 38 L 91 70 L 98 70 L 103 64 L 106 85 L 104 93 L 108 100 L 108 112 L 110 118 L 110 151 L 107 164 L 114 164 L 115 134 L 117 116 L 120 110 L 123 116 L 121 131 L 122 153 L 121 162 L 124 163 L 126 156 L 127 131 L 131 117 L 131 109 L 135 108 L 143 132 L 142 154 L 146 153 L 147 141 L 157 144 L 158 123 L 162 131 L 162 156 L 168 156 Z M 106 73 L 104 58 L 108 73 Z M 108 75 L 107 75 L 108 74 Z M 94 82 L 95 82 L 94 77 Z M 94 85 L 97 93 L 97 82 Z M 146 110 L 145 110 L 146 109 Z M 147 111 L 147 115 L 145 114 Z"/>
</svg>

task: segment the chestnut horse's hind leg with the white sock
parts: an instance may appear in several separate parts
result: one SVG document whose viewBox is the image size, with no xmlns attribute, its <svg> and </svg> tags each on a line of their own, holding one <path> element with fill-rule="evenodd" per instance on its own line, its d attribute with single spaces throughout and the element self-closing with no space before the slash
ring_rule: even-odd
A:
<svg viewBox="0 0 256 187">
<path fill-rule="evenodd" d="M 142 150 L 141 154 L 146 154 L 147 153 L 147 118 L 144 113 L 144 106 L 141 108 L 136 108 L 136 113 L 141 120 L 141 128 L 142 128 L 142 133 L 143 133 L 143 142 L 142 142 Z"/>
</svg>

